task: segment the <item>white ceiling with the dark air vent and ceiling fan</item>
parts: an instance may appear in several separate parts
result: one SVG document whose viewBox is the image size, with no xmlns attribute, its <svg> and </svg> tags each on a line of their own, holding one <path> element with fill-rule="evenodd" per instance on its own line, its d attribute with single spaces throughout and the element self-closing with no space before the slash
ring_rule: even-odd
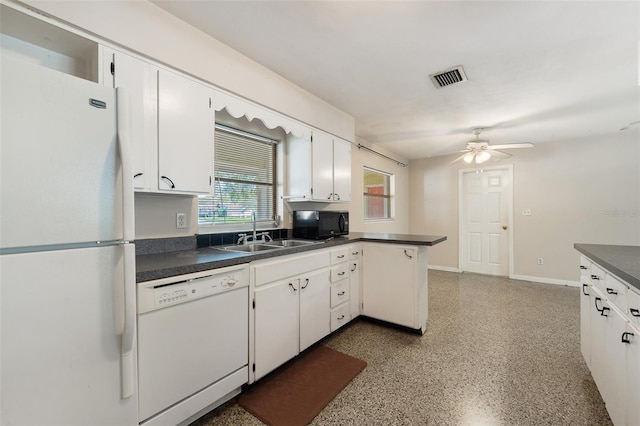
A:
<svg viewBox="0 0 640 426">
<path fill-rule="evenodd" d="M 409 159 L 475 127 L 545 143 L 640 120 L 638 1 L 151 1 Z M 469 81 L 436 89 L 429 74 L 456 65 Z"/>
</svg>

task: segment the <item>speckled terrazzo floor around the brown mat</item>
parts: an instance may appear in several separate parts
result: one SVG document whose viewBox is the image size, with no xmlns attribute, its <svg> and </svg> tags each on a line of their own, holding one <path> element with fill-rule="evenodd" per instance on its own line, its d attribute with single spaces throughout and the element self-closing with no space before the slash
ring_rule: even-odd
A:
<svg viewBox="0 0 640 426">
<path fill-rule="evenodd" d="M 429 271 L 424 336 L 358 320 L 323 344 L 368 365 L 312 425 L 610 425 L 577 288 Z M 233 401 L 193 426 L 261 425 Z"/>
</svg>

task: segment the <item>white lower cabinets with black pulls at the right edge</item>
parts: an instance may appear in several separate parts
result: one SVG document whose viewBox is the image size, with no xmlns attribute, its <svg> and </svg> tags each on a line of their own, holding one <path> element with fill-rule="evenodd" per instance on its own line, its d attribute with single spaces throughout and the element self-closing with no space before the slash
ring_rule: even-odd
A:
<svg viewBox="0 0 640 426">
<path fill-rule="evenodd" d="M 601 266 L 580 261 L 580 346 L 614 425 L 640 425 L 638 293 Z"/>
</svg>

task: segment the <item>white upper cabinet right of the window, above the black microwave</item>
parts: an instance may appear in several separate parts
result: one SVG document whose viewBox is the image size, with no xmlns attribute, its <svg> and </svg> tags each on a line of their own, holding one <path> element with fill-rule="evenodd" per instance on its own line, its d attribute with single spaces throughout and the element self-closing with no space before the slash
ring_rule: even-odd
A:
<svg viewBox="0 0 640 426">
<path fill-rule="evenodd" d="M 287 148 L 290 201 L 351 201 L 351 144 L 320 130 L 291 137 Z"/>
</svg>

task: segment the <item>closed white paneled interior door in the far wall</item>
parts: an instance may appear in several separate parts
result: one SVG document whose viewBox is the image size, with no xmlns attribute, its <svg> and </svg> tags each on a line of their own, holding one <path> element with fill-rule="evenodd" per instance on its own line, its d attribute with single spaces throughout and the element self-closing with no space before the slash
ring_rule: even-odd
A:
<svg viewBox="0 0 640 426">
<path fill-rule="evenodd" d="M 509 275 L 512 169 L 462 172 L 461 270 Z"/>
</svg>

